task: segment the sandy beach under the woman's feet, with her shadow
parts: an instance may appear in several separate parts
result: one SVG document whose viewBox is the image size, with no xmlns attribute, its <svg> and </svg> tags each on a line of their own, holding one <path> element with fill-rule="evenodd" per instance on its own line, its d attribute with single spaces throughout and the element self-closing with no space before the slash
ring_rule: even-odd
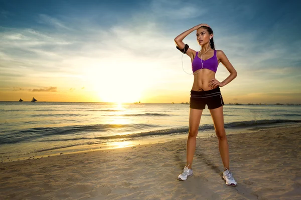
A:
<svg viewBox="0 0 301 200">
<path fill-rule="evenodd" d="M 1 199 L 300 199 L 301 125 L 228 134 L 238 186 L 222 179 L 217 137 L 198 138 L 194 175 L 177 180 L 186 140 L 0 163 Z"/>
</svg>

